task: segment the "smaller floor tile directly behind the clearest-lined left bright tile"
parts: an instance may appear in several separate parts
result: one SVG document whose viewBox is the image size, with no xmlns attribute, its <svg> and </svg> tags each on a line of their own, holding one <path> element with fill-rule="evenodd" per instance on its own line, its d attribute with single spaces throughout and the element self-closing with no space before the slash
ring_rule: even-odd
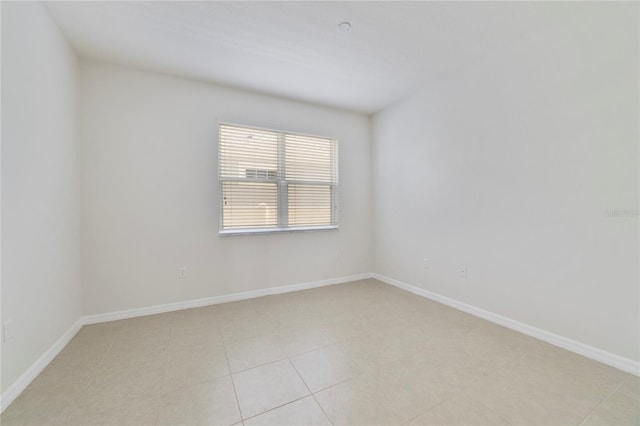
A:
<svg viewBox="0 0 640 426">
<path fill-rule="evenodd" d="M 270 335 L 227 342 L 225 348 L 232 372 L 286 358 L 278 339 Z"/>
</svg>

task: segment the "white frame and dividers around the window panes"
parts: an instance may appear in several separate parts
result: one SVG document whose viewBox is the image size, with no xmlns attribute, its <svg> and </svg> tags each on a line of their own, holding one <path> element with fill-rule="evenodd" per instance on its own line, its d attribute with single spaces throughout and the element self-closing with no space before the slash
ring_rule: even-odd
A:
<svg viewBox="0 0 640 426">
<path fill-rule="evenodd" d="M 313 231 L 336 231 L 340 229 L 339 224 L 339 195 L 340 195 L 340 184 L 339 184 L 339 143 L 338 139 L 330 136 L 318 136 L 312 135 L 308 133 L 300 133 L 293 132 L 287 130 L 279 130 L 268 127 L 260 127 L 246 124 L 237 124 L 233 122 L 219 121 L 218 123 L 218 191 L 219 191 L 219 203 L 218 203 L 218 213 L 219 213 L 219 225 L 218 225 L 218 235 L 220 236 L 231 236 L 231 235 L 255 235 L 255 234 L 272 234 L 272 233 L 283 233 L 283 232 L 313 232 Z M 273 179 L 270 176 L 270 171 L 265 170 L 266 177 L 258 178 L 258 172 L 260 169 L 251 169 L 252 172 L 256 172 L 256 177 L 249 178 L 223 178 L 221 173 L 221 129 L 222 126 L 230 126 L 230 127 L 238 127 L 242 129 L 249 130 L 258 130 L 258 131 L 266 131 L 273 132 L 278 135 L 278 153 L 277 153 L 277 162 L 278 169 L 276 170 L 276 178 Z M 300 136 L 300 137 L 309 137 L 309 138 L 318 138 L 318 139 L 327 139 L 331 141 L 331 150 L 332 150 L 332 167 L 331 173 L 335 176 L 335 181 L 333 182 L 324 182 L 324 181 L 307 181 L 307 180 L 294 180 L 286 178 L 286 147 L 285 147 L 285 136 Z M 249 171 L 250 169 L 247 169 Z M 226 182 L 244 182 L 250 181 L 255 183 L 268 183 L 268 184 L 276 184 L 277 190 L 277 225 L 271 227 L 256 227 L 256 228 L 232 228 L 232 229 L 224 229 L 224 184 Z M 331 203 L 331 224 L 329 225 L 303 225 L 303 226 L 290 226 L 289 225 L 289 201 L 288 201 L 288 187 L 289 185 L 317 185 L 317 186 L 328 186 L 330 188 L 330 203 Z"/>
</svg>

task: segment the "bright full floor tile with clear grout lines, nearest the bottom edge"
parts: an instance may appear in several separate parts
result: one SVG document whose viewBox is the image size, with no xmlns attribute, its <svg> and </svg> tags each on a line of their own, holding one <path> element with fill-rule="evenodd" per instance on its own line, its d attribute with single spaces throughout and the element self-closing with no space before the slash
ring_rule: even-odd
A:
<svg viewBox="0 0 640 426">
<path fill-rule="evenodd" d="M 233 375 L 243 418 L 261 414 L 309 394 L 289 360 Z"/>
</svg>

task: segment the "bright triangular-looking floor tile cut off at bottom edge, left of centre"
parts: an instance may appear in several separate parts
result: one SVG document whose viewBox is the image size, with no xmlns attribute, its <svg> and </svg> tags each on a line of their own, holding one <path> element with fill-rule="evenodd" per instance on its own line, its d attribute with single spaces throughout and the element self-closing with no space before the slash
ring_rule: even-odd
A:
<svg viewBox="0 0 640 426">
<path fill-rule="evenodd" d="M 322 412 L 313 396 L 290 402 L 244 421 L 245 426 L 298 426 L 327 425 L 331 422 Z"/>
</svg>

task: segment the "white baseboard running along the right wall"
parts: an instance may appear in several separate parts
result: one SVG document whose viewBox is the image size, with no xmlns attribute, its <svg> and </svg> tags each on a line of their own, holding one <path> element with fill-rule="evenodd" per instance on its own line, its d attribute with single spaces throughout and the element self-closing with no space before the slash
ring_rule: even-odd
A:
<svg viewBox="0 0 640 426">
<path fill-rule="evenodd" d="M 372 274 L 372 278 L 375 278 L 378 281 L 382 281 L 392 286 L 401 288 L 403 290 L 409 291 L 411 293 L 417 294 L 419 296 L 426 297 L 427 299 L 431 299 L 436 302 L 442 303 L 443 305 L 451 306 L 452 308 L 458 309 L 468 314 L 486 319 L 488 321 L 491 321 L 493 323 L 518 331 L 528 336 L 535 337 L 536 339 L 543 340 L 552 345 L 559 346 L 563 349 L 567 349 L 571 352 L 575 352 L 587 358 L 594 359 L 603 364 L 610 365 L 612 367 L 615 367 L 627 373 L 634 374 L 636 376 L 640 375 L 640 363 L 638 363 L 638 361 L 634 361 L 634 360 L 622 357 L 620 355 L 616 355 L 611 352 L 607 352 L 605 350 L 602 350 L 593 346 L 589 346 L 587 344 L 578 342 L 576 340 L 569 339 L 568 337 L 560 336 L 558 334 L 551 333 L 549 331 L 541 330 L 539 328 L 512 320 L 511 318 L 503 317 L 502 315 L 485 311 L 484 309 L 480 309 L 473 305 L 468 305 L 466 303 L 457 301 L 455 299 L 451 299 L 446 296 L 442 296 L 440 294 L 433 293 L 428 290 L 424 290 L 422 288 L 414 287 L 410 284 L 403 283 L 402 281 L 385 277 L 384 275 Z"/>
</svg>

